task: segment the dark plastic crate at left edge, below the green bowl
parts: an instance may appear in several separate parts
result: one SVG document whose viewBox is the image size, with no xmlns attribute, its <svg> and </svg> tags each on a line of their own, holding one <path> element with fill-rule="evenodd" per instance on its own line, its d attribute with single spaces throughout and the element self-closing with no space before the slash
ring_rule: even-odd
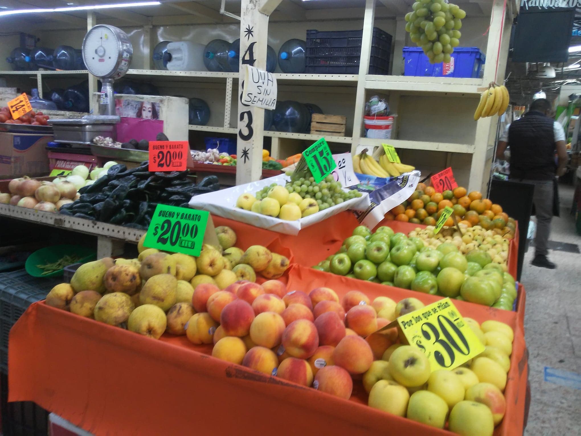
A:
<svg viewBox="0 0 581 436">
<path fill-rule="evenodd" d="M 0 274 L 0 371 L 8 373 L 10 328 L 32 303 L 46 297 L 60 277 L 33 277 L 26 270 Z"/>
</svg>

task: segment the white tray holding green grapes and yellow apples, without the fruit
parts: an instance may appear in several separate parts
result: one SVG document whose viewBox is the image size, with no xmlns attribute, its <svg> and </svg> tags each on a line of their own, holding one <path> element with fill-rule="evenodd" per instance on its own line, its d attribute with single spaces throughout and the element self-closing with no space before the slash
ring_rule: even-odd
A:
<svg viewBox="0 0 581 436">
<path fill-rule="evenodd" d="M 343 212 L 343 210 L 366 210 L 371 205 L 369 195 L 363 194 L 363 196 L 359 198 L 347 200 L 343 203 L 332 206 L 331 208 L 321 210 L 320 212 L 313 213 L 313 215 L 309 215 L 296 221 L 285 221 L 235 207 L 236 200 L 242 194 L 254 195 L 265 186 L 272 183 L 285 185 L 288 180 L 288 176 L 281 174 L 280 176 L 264 178 L 263 180 L 235 186 L 218 192 L 196 195 L 189 201 L 189 207 L 192 209 L 207 210 L 214 215 L 241 221 L 242 223 L 250 224 L 251 226 L 266 228 L 267 230 L 277 231 L 278 233 L 284 233 L 287 235 L 297 235 L 301 228 L 312 226 L 319 221 L 327 219 L 329 216 Z"/>
</svg>

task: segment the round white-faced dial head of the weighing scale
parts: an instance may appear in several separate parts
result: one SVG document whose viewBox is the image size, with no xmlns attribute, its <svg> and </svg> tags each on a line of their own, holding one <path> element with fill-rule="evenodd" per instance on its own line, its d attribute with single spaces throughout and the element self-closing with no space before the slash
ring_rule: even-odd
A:
<svg viewBox="0 0 581 436">
<path fill-rule="evenodd" d="M 83 59 L 91 74 L 120 78 L 129 69 L 133 50 L 127 34 L 117 27 L 98 24 L 83 40 Z"/>
</svg>

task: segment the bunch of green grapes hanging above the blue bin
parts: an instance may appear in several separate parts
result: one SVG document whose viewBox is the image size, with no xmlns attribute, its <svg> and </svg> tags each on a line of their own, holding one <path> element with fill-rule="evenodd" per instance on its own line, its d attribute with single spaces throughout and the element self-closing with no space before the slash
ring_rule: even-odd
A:
<svg viewBox="0 0 581 436">
<path fill-rule="evenodd" d="M 430 63 L 449 63 L 454 47 L 460 44 L 460 28 L 466 12 L 446 0 L 420 0 L 406 14 L 406 30 Z"/>
</svg>

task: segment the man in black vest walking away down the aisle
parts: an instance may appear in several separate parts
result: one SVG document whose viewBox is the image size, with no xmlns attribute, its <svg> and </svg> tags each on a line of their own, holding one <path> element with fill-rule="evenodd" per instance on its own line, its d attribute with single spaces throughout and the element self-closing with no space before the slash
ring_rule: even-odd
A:
<svg viewBox="0 0 581 436">
<path fill-rule="evenodd" d="M 553 184 L 555 175 L 565 173 L 567 152 L 565 132 L 561 124 L 551 119 L 551 104 L 544 98 L 532 102 L 529 112 L 509 124 L 498 140 L 496 157 L 504 158 L 510 145 L 510 178 L 535 185 L 533 202 L 537 216 L 535 259 L 532 265 L 555 269 L 548 260 L 548 235 L 553 218 Z M 555 164 L 555 152 L 558 165 Z"/>
</svg>

